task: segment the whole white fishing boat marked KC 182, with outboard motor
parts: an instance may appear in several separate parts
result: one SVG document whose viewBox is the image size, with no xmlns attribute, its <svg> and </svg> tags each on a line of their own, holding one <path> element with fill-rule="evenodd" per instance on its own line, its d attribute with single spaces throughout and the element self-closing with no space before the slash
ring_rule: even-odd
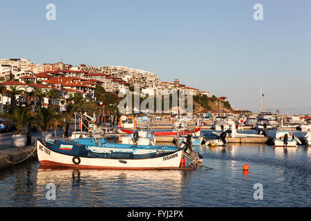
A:
<svg viewBox="0 0 311 221">
<path fill-rule="evenodd" d="M 85 169 L 195 169 L 193 166 L 180 166 L 182 157 L 194 162 L 202 162 L 202 157 L 182 146 L 169 153 L 133 154 L 133 152 L 111 151 L 95 153 L 84 144 L 62 142 L 53 144 L 37 140 L 37 156 L 41 166 L 66 166 Z M 133 147 L 136 148 L 136 147 Z"/>
</svg>

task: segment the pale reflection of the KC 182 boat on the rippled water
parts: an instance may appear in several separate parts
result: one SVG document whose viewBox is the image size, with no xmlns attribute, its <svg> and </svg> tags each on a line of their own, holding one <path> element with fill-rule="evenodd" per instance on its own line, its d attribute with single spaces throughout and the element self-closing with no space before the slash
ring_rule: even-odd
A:
<svg viewBox="0 0 311 221">
<path fill-rule="evenodd" d="M 188 171 L 189 172 L 189 171 Z M 187 171 L 55 169 L 40 166 L 37 190 L 42 201 L 54 184 L 52 206 L 160 206 L 182 204 Z M 139 198 L 142 198 L 140 200 Z M 152 198 L 152 200 L 146 200 Z M 150 201 L 150 202 L 149 202 Z"/>
</svg>

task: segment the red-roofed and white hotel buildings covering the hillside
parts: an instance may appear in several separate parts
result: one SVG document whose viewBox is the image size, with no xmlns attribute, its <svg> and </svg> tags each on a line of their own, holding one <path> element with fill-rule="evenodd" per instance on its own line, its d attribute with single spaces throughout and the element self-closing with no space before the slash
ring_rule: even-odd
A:
<svg viewBox="0 0 311 221">
<path fill-rule="evenodd" d="M 17 86 L 23 90 L 28 87 L 45 90 L 58 90 L 62 95 L 80 93 L 87 99 L 95 99 L 95 86 L 102 86 L 106 92 L 129 90 L 139 84 L 143 94 L 155 95 L 159 90 L 184 90 L 185 95 L 207 95 L 210 93 L 180 84 L 160 81 L 155 73 L 124 66 L 71 66 L 58 62 L 55 64 L 34 64 L 28 59 L 0 59 L 0 85 L 10 90 Z M 10 103 L 10 98 L 1 96 L 0 103 Z M 55 102 L 57 104 L 58 102 Z"/>
</svg>

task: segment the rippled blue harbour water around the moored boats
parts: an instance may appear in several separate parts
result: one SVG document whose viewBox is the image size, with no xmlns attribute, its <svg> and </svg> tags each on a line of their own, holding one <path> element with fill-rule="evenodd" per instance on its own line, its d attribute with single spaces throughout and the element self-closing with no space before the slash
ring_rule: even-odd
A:
<svg viewBox="0 0 311 221">
<path fill-rule="evenodd" d="M 0 171 L 0 206 L 311 206 L 311 148 L 228 144 L 196 150 L 213 169 L 56 170 L 32 160 Z M 55 200 L 46 198 L 49 183 Z M 254 200 L 254 184 L 263 185 L 263 200 Z"/>
</svg>

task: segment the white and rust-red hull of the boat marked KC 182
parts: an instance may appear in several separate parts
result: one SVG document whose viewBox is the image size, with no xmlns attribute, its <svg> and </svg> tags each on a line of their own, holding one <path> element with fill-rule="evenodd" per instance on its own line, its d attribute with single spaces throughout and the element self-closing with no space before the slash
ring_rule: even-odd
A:
<svg viewBox="0 0 311 221">
<path fill-rule="evenodd" d="M 37 155 L 41 166 L 65 166 L 84 169 L 180 169 L 182 151 L 146 159 L 112 159 L 101 157 L 79 157 L 58 153 L 37 141 Z"/>
</svg>

